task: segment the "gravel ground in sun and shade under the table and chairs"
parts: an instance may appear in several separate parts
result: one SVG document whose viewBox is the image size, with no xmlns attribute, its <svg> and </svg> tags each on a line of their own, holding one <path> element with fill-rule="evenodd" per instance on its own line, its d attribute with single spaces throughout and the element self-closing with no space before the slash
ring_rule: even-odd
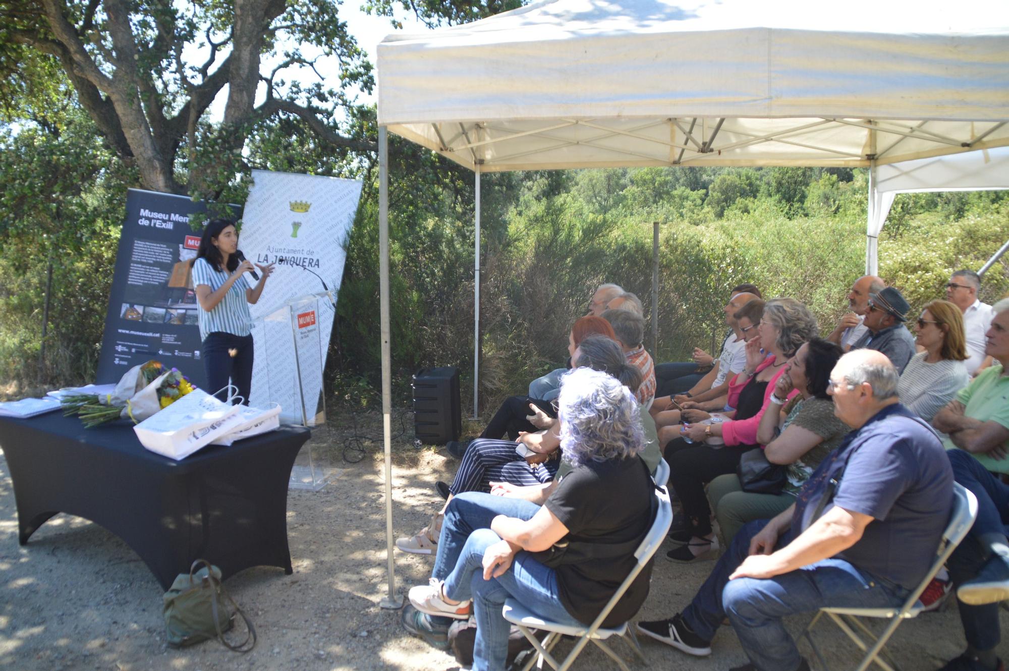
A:
<svg viewBox="0 0 1009 671">
<path fill-rule="evenodd" d="M 372 434 L 380 431 L 374 417 L 363 423 Z M 0 665 L 46 671 L 458 668 L 450 655 L 404 632 L 400 611 L 378 607 L 385 592 L 382 460 L 371 443 L 360 462 L 339 461 L 345 438 L 335 430 L 313 438 L 322 460 L 338 468 L 336 477 L 321 491 L 289 493 L 294 575 L 252 568 L 225 582 L 259 634 L 255 650 L 246 655 L 215 642 L 186 650 L 169 648 L 159 585 L 122 541 L 98 525 L 60 515 L 26 547 L 19 547 L 11 480 L 6 462 L 0 460 Z M 440 504 L 431 485 L 448 479 L 454 467 L 443 450 L 414 449 L 405 440 L 398 441 L 394 455 L 398 535 L 412 533 L 430 519 Z M 430 558 L 398 553 L 396 562 L 401 594 L 410 585 L 426 582 Z M 681 566 L 659 557 L 640 618 L 667 617 L 682 608 L 711 565 Z M 1002 611 L 1001 617 L 1006 631 L 1009 613 Z M 797 618 L 789 627 L 797 631 L 805 623 L 806 619 Z M 854 667 L 857 656 L 844 635 L 829 624 L 818 628 L 817 641 L 831 668 Z M 745 661 L 727 629 L 719 633 L 707 659 L 689 658 L 652 641 L 642 645 L 654 668 L 713 671 Z M 964 645 L 956 607 L 947 607 L 902 625 L 890 648 L 897 661 L 913 671 L 938 668 Z M 613 646 L 627 654 L 621 644 Z M 807 651 L 805 644 L 801 648 Z M 1009 658 L 1009 643 L 1003 642 L 1000 655 Z M 596 650 L 583 653 L 577 665 L 613 667 Z"/>
</svg>

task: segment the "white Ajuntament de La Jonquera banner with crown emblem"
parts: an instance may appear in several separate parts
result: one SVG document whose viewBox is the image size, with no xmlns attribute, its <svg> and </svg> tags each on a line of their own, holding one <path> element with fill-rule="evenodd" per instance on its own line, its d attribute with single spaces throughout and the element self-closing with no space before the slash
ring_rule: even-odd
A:
<svg viewBox="0 0 1009 671">
<path fill-rule="evenodd" d="M 306 405 L 310 404 L 308 399 L 323 394 L 322 371 L 335 308 L 328 299 L 319 301 L 313 316 L 319 329 L 319 356 L 302 355 L 297 363 L 292 330 L 267 328 L 261 320 L 299 299 L 325 291 L 323 283 L 333 292 L 335 302 L 361 183 L 268 171 L 252 171 L 252 180 L 238 246 L 249 260 L 276 266 L 259 302 L 249 306 L 255 341 L 249 402 L 257 408 L 278 403 L 285 420 L 300 423 L 301 399 L 296 399 L 292 382 L 300 365 L 302 378 L 310 385 L 304 389 Z M 276 379 L 277 370 L 290 371 L 291 380 Z M 277 394 L 285 398 L 272 398 Z"/>
</svg>

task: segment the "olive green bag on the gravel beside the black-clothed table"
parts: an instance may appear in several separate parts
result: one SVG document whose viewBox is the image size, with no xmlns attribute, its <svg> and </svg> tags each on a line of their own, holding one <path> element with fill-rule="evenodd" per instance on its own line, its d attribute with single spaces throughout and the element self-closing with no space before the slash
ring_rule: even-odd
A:
<svg viewBox="0 0 1009 671">
<path fill-rule="evenodd" d="M 255 628 L 224 590 L 221 569 L 207 560 L 197 559 L 189 573 L 176 576 L 163 599 L 170 646 L 181 648 L 216 638 L 225 648 L 238 653 L 247 653 L 255 647 Z M 228 612 L 225 599 L 231 603 L 233 612 Z M 231 644 L 224 639 L 224 632 L 234 625 L 235 613 L 245 621 L 247 633 L 244 641 Z"/>
</svg>

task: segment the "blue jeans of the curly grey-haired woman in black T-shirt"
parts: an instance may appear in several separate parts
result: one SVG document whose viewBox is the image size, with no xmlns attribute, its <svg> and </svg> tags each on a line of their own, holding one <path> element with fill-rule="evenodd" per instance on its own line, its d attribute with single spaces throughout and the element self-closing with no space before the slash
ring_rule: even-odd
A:
<svg viewBox="0 0 1009 671">
<path fill-rule="evenodd" d="M 528 552 L 519 552 L 502 575 L 483 579 L 483 552 L 500 540 L 490 531 L 490 521 L 498 515 L 529 520 L 539 510 L 528 500 L 467 491 L 453 497 L 445 511 L 431 575 L 445 580 L 449 598 L 473 599 L 473 671 L 504 669 L 511 625 L 501 614 L 501 606 L 510 596 L 546 620 L 581 625 L 558 598 L 557 573 Z"/>
</svg>

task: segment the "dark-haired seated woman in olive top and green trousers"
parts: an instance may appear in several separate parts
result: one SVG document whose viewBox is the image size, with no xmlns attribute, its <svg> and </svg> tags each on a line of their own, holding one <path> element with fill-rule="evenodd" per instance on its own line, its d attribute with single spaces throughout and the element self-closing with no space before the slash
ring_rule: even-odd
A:
<svg viewBox="0 0 1009 671">
<path fill-rule="evenodd" d="M 840 347 L 813 339 L 799 347 L 771 395 L 771 407 L 761 418 L 757 442 L 764 456 L 785 469 L 786 480 L 776 492 L 744 490 L 736 473 L 719 475 L 707 487 L 724 546 L 748 522 L 768 520 L 795 502 L 810 473 L 845 439 L 851 428 L 833 413 L 826 393 L 830 371 L 840 358 Z M 798 389 L 791 403 L 785 399 Z M 775 406 L 781 408 L 776 413 Z M 724 547 L 723 546 L 723 547 Z"/>
</svg>

